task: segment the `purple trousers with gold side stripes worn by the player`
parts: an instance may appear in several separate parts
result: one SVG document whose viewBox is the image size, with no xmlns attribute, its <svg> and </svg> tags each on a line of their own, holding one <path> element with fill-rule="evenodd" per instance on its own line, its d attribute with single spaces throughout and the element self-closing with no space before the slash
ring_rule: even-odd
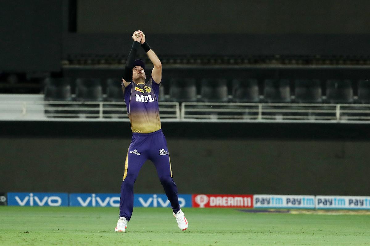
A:
<svg viewBox="0 0 370 246">
<path fill-rule="evenodd" d="M 120 217 L 130 220 L 134 209 L 134 183 L 146 160 L 151 160 L 171 208 L 176 213 L 180 210 L 177 187 L 172 179 L 171 161 L 168 155 L 167 142 L 158 130 L 151 133 L 132 133 L 131 144 L 125 161 L 125 172 L 121 185 Z"/>
</svg>

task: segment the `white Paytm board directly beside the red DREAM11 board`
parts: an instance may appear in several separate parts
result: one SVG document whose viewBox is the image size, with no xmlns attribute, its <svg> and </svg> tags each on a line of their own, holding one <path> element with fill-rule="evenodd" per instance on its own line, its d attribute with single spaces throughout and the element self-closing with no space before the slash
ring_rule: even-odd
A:
<svg viewBox="0 0 370 246">
<path fill-rule="evenodd" d="M 255 208 L 315 208 L 314 195 L 254 195 Z"/>
</svg>

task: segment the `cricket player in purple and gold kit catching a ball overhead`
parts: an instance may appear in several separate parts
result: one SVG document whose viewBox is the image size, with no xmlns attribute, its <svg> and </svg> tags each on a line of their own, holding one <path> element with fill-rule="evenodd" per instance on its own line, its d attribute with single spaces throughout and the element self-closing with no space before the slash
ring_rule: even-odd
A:
<svg viewBox="0 0 370 246">
<path fill-rule="evenodd" d="M 162 63 L 158 56 L 145 42 L 145 34 L 136 31 L 132 35 L 134 43 L 127 57 L 125 73 L 122 78 L 127 113 L 131 122 L 132 139 L 125 161 L 125 171 L 121 185 L 120 218 L 115 232 L 124 232 L 134 209 L 134 183 L 139 170 L 146 160 L 151 160 L 168 200 L 171 202 L 172 213 L 178 227 L 184 231 L 188 221 L 181 211 L 177 187 L 172 179 L 171 162 L 168 155 L 167 142 L 161 130 L 159 119 L 158 94 L 162 80 Z M 145 64 L 135 60 L 139 46 L 147 52 L 154 65 L 151 77 L 145 83 Z"/>
</svg>

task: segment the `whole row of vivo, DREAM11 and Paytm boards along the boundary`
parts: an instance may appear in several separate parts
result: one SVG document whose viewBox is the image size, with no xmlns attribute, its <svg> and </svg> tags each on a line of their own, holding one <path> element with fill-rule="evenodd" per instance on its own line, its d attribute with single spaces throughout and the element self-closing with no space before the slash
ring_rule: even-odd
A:
<svg viewBox="0 0 370 246">
<path fill-rule="evenodd" d="M 370 209 L 370 196 L 179 194 L 181 207 Z M 119 207 L 118 193 L 0 193 L 0 205 Z M 165 194 L 135 194 L 134 207 L 171 207 Z"/>
</svg>

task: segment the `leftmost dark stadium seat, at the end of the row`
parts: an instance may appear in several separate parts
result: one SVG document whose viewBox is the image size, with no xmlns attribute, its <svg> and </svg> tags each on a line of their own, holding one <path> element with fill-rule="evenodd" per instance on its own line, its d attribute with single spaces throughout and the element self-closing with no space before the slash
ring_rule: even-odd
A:
<svg viewBox="0 0 370 246">
<path fill-rule="evenodd" d="M 71 82 L 68 78 L 47 78 L 44 81 L 45 101 L 72 101 Z"/>
</svg>

